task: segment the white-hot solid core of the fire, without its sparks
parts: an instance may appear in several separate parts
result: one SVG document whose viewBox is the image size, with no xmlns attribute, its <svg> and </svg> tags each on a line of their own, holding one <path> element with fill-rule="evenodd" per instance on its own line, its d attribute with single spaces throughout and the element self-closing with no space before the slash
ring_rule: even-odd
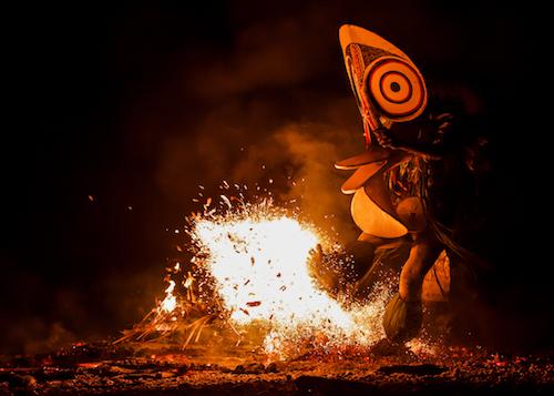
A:
<svg viewBox="0 0 554 396">
<path fill-rule="evenodd" d="M 316 290 L 308 275 L 317 235 L 288 217 L 215 222 L 195 233 L 208 250 L 207 265 L 230 317 L 240 324 L 274 319 L 281 324 L 327 318 L 348 326 L 337 302 Z"/>
</svg>

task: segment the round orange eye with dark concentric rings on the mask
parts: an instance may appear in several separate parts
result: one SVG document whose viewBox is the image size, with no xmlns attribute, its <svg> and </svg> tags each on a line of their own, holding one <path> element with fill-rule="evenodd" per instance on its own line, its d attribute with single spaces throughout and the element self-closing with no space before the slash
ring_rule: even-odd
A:
<svg viewBox="0 0 554 396">
<path fill-rule="evenodd" d="M 384 58 L 368 70 L 368 95 L 384 116 L 407 121 L 423 111 L 425 83 L 414 67 L 399 58 Z"/>
</svg>

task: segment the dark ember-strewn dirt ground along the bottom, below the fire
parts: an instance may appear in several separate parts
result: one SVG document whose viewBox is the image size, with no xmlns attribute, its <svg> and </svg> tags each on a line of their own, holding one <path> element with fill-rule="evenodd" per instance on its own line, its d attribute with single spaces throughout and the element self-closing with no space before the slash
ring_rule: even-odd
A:
<svg viewBox="0 0 554 396">
<path fill-rule="evenodd" d="M 230 352 L 229 352 L 230 351 Z M 269 362 L 257 351 L 152 343 L 80 344 L 53 354 L 2 357 L 0 394 L 554 394 L 551 355 L 483 348 L 404 348 L 307 353 Z"/>
</svg>

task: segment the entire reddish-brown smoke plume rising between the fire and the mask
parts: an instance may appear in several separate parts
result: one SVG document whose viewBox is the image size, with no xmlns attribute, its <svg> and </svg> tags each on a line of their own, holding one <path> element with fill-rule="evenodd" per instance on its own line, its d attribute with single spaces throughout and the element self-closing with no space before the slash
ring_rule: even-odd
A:
<svg viewBox="0 0 554 396">
<path fill-rule="evenodd" d="M 224 180 L 259 185 L 350 238 L 349 199 L 340 193 L 347 174 L 334 163 L 363 145 L 339 24 L 321 7 L 246 19 L 226 48 L 204 45 L 205 55 L 187 59 L 184 97 L 202 110 L 161 138 L 156 181 L 164 196 L 188 212 L 198 185 L 205 196 L 217 196 Z"/>
</svg>

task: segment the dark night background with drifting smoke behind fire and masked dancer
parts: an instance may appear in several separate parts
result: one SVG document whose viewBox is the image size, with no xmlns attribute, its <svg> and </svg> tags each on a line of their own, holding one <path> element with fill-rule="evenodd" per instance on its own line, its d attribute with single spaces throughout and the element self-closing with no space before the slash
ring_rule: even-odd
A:
<svg viewBox="0 0 554 396">
<path fill-rule="evenodd" d="M 222 180 L 274 179 L 281 195 L 324 207 L 314 216 L 329 207 L 347 222 L 332 162 L 362 144 L 342 23 L 401 48 L 488 136 L 489 294 L 513 339 L 547 343 L 532 24 L 505 2 L 445 3 L 73 3 L 7 14 L 0 354 L 101 339 L 140 321 L 163 294 L 173 230 L 198 209 L 199 184 L 215 193 Z M 305 190 L 286 175 L 307 179 Z"/>
</svg>

